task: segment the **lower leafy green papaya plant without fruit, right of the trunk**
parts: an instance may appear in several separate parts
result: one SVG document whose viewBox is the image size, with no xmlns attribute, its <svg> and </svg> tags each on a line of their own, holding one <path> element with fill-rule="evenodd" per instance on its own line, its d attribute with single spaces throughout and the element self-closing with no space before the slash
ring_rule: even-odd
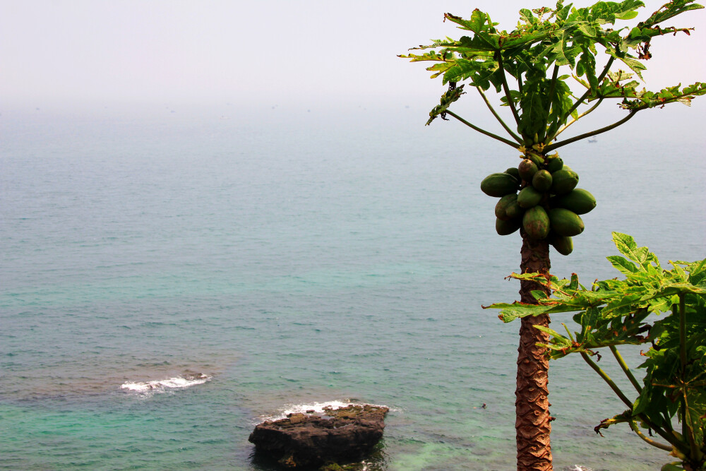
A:
<svg viewBox="0 0 706 471">
<path fill-rule="evenodd" d="M 550 335 L 545 346 L 551 359 L 581 354 L 628 406 L 625 412 L 605 419 L 596 431 L 625 422 L 648 443 L 680 458 L 685 469 L 702 470 L 706 453 L 706 259 L 670 262 L 672 268 L 667 269 L 647 247 L 638 247 L 633 237 L 614 232 L 613 239 L 622 255 L 608 260 L 624 279 L 596 281 L 589 290 L 575 274 L 570 280 L 513 274 L 518 280 L 541 282 L 553 296 L 537 291 L 537 304 L 489 307 L 501 309 L 505 322 L 539 314 L 576 313 L 573 321 L 579 330 L 573 333 L 566 326 L 566 335 L 537 328 Z M 628 344 L 649 346 L 639 366 L 645 371 L 642 384 L 617 350 Z M 598 350 L 605 347 L 635 386 L 635 400 L 629 400 L 593 361 L 592 357 L 601 358 Z M 673 429 L 674 417 L 681 422 L 681 432 Z M 640 428 L 657 431 L 669 445 L 649 439 Z"/>
</svg>

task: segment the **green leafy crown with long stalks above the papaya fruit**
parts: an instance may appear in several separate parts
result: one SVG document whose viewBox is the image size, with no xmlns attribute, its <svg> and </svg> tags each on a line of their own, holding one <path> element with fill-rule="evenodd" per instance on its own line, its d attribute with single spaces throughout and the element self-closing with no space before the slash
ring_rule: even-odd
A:
<svg viewBox="0 0 706 471">
<path fill-rule="evenodd" d="M 517 145 L 472 127 L 515 148 L 534 145 L 535 150 L 549 152 L 578 138 L 594 136 L 622 124 L 624 121 L 621 120 L 613 126 L 561 144 L 554 142 L 559 133 L 592 112 L 602 100 L 621 100 L 621 107 L 630 112 L 627 120 L 642 109 L 672 102 L 688 105 L 693 97 L 706 93 L 706 84 L 699 82 L 658 92 L 638 90 L 639 82 L 632 77 L 642 79 L 643 63 L 652 56 L 650 42 L 654 37 L 678 32 L 688 35 L 691 29 L 662 26 L 662 23 L 686 11 L 703 8 L 693 0 L 672 0 L 633 27 L 616 27 L 618 21 L 636 18 L 638 8 L 643 6 L 642 1 L 624 0 L 599 1 L 587 8 L 575 8 L 573 4 L 565 6 L 563 0 L 559 0 L 554 9 L 520 10 L 517 28 L 510 32 L 496 28 L 498 23 L 493 23 L 488 13 L 478 9 L 469 19 L 445 13 L 444 20 L 455 23 L 461 30 L 469 32 L 468 35 L 457 40 L 446 37 L 420 45 L 411 50 L 425 52 L 400 57 L 412 62 L 435 62 L 427 68 L 433 72 L 432 78 L 442 76 L 443 83 L 450 84 L 465 81 L 477 88 L 484 100 L 486 90 L 492 88 L 501 93 L 501 105 L 512 110 L 517 134 L 498 117 L 487 100 L 486 104 Z M 598 64 L 601 62 L 599 52 L 606 56 L 605 64 L 601 66 Z M 614 63 L 622 64 L 627 71 L 611 71 Z M 567 82 L 570 78 L 586 89 L 580 97 L 573 95 Z M 508 80 L 515 85 L 510 87 Z M 448 107 L 459 97 L 460 94 L 444 94 L 441 105 L 429 113 L 427 124 L 438 116 L 445 117 Z M 582 113 L 578 112 L 580 106 L 594 100 L 599 102 Z"/>
</svg>

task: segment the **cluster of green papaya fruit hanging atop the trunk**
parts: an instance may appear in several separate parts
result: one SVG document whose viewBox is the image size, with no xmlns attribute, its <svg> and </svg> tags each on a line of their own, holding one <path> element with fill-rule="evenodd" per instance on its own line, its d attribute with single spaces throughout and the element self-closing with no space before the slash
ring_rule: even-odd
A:
<svg viewBox="0 0 706 471">
<path fill-rule="evenodd" d="M 532 239 L 547 239 L 559 254 L 568 255 L 573 251 L 571 238 L 584 229 L 580 215 L 596 207 L 596 198 L 576 188 L 578 174 L 558 155 L 525 157 L 517 168 L 481 181 L 483 193 L 500 198 L 495 229 L 508 235 L 522 227 Z"/>
</svg>

